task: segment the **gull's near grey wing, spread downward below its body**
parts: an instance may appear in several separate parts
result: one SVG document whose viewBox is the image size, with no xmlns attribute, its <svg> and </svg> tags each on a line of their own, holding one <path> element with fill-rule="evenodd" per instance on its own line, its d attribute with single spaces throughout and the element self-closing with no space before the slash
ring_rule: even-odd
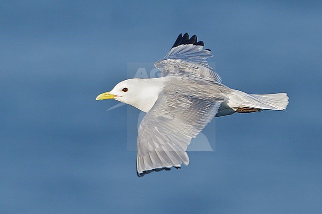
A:
<svg viewBox="0 0 322 214">
<path fill-rule="evenodd" d="M 137 173 L 189 164 L 186 149 L 211 122 L 223 100 L 162 93 L 139 127 Z"/>
</svg>

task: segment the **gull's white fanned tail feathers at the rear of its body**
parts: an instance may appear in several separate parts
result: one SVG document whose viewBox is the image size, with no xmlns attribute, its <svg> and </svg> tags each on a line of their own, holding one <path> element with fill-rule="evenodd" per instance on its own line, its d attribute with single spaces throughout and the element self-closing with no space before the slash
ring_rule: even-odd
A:
<svg viewBox="0 0 322 214">
<path fill-rule="evenodd" d="M 233 90 L 228 103 L 230 108 L 249 107 L 268 110 L 285 110 L 287 104 L 286 93 L 248 94 L 239 90 Z"/>
</svg>

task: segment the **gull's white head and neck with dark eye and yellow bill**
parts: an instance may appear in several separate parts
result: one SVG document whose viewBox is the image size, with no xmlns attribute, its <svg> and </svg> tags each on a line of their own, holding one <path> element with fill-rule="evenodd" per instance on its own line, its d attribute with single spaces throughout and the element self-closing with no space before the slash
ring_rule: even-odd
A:
<svg viewBox="0 0 322 214">
<path fill-rule="evenodd" d="M 157 84 L 160 83 L 160 81 L 151 80 L 153 79 L 124 80 L 114 86 L 111 91 L 98 95 L 96 100 L 115 99 L 132 105 L 141 111 L 148 112 L 155 104 L 159 92 L 162 89 L 162 86 Z"/>
</svg>

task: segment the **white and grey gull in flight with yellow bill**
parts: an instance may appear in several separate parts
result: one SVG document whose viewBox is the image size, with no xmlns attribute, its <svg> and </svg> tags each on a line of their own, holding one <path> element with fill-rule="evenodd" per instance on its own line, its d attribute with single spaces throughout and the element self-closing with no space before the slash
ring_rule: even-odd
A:
<svg viewBox="0 0 322 214">
<path fill-rule="evenodd" d="M 128 79 L 97 96 L 96 100 L 115 99 L 147 113 L 138 128 L 139 177 L 187 166 L 191 139 L 214 117 L 286 109 L 286 93 L 248 94 L 223 85 L 206 61 L 212 56 L 196 35 L 180 34 L 155 63 L 160 78 Z"/>
</svg>

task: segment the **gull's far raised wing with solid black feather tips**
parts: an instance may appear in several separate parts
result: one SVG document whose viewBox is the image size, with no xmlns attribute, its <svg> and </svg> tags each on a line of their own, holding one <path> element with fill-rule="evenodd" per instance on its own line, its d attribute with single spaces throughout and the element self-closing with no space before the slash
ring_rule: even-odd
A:
<svg viewBox="0 0 322 214">
<path fill-rule="evenodd" d="M 197 36 L 189 39 L 186 33 L 179 35 L 168 54 L 155 63 L 162 76 L 187 76 L 221 83 L 221 78 L 208 65 L 206 59 L 212 57 L 210 49 L 203 49 L 204 43 L 197 42 Z"/>
</svg>

